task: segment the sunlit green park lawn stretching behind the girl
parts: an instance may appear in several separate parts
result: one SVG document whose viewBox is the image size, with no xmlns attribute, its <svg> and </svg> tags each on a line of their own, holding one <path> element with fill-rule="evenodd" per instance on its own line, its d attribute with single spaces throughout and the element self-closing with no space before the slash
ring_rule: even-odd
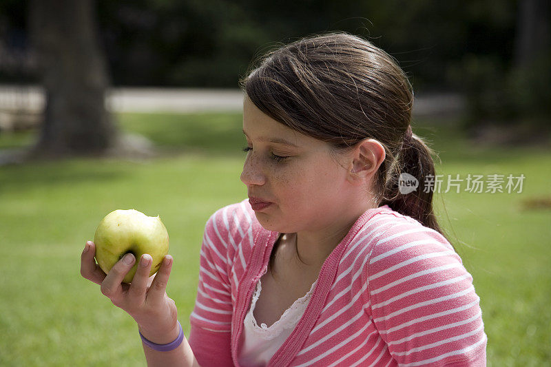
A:
<svg viewBox="0 0 551 367">
<path fill-rule="evenodd" d="M 174 268 L 168 293 L 189 335 L 204 224 L 246 198 L 240 114 L 122 114 L 162 154 L 145 161 L 75 158 L 0 167 L 0 365 L 145 366 L 133 320 L 79 274 L 85 240 L 114 209 L 161 216 Z M 437 193 L 435 205 L 481 297 L 488 364 L 551 360 L 551 152 L 472 147 L 450 125 L 413 130 L 433 143 L 437 174 L 526 176 L 521 193 Z M 0 135 L 17 147 L 30 134 Z M 462 182 L 461 190 L 466 189 Z"/>
</svg>

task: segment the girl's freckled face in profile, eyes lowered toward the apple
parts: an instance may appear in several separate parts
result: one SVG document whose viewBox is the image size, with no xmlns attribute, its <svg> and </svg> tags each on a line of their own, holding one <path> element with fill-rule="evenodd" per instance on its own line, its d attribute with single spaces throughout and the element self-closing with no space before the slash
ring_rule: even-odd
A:
<svg viewBox="0 0 551 367">
<path fill-rule="evenodd" d="M 347 170 L 328 143 L 278 123 L 247 96 L 243 131 L 247 158 L 241 180 L 262 227 L 295 233 L 328 229 L 342 220 Z"/>
</svg>

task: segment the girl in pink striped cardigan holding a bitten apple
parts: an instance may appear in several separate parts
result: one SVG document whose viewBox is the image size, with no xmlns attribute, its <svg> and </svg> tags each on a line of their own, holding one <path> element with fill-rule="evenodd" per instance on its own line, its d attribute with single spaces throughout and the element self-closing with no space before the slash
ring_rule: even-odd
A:
<svg viewBox="0 0 551 367">
<path fill-rule="evenodd" d="M 413 92 L 384 51 L 331 33 L 267 54 L 241 82 L 248 200 L 207 221 L 189 339 L 144 255 L 82 274 L 138 324 L 152 366 L 484 366 L 472 277 L 433 213 Z M 401 190 L 410 174 L 415 191 Z M 403 192 L 402 192 L 403 191 Z"/>
</svg>

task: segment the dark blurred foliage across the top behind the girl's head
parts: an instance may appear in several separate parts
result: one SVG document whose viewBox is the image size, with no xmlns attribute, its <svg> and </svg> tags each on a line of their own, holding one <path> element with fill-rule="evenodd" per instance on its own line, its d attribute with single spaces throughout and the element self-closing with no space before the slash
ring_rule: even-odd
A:
<svg viewBox="0 0 551 367">
<path fill-rule="evenodd" d="M 518 67 L 519 52 L 527 52 L 519 51 L 522 3 L 98 0 L 95 10 L 113 85 L 236 87 L 253 56 L 270 46 L 343 30 L 395 56 L 418 92 L 464 92 L 473 118 L 510 122 L 526 112 L 548 118 L 543 105 L 551 100 L 549 1 L 524 1 L 539 7 L 539 19 L 524 21 L 541 24 L 545 49 L 528 71 Z M 28 0 L 0 3 L 4 48 L 32 53 L 27 8 Z M 37 80 L 32 61 L 0 68 L 0 82 L 21 78 Z"/>
</svg>

